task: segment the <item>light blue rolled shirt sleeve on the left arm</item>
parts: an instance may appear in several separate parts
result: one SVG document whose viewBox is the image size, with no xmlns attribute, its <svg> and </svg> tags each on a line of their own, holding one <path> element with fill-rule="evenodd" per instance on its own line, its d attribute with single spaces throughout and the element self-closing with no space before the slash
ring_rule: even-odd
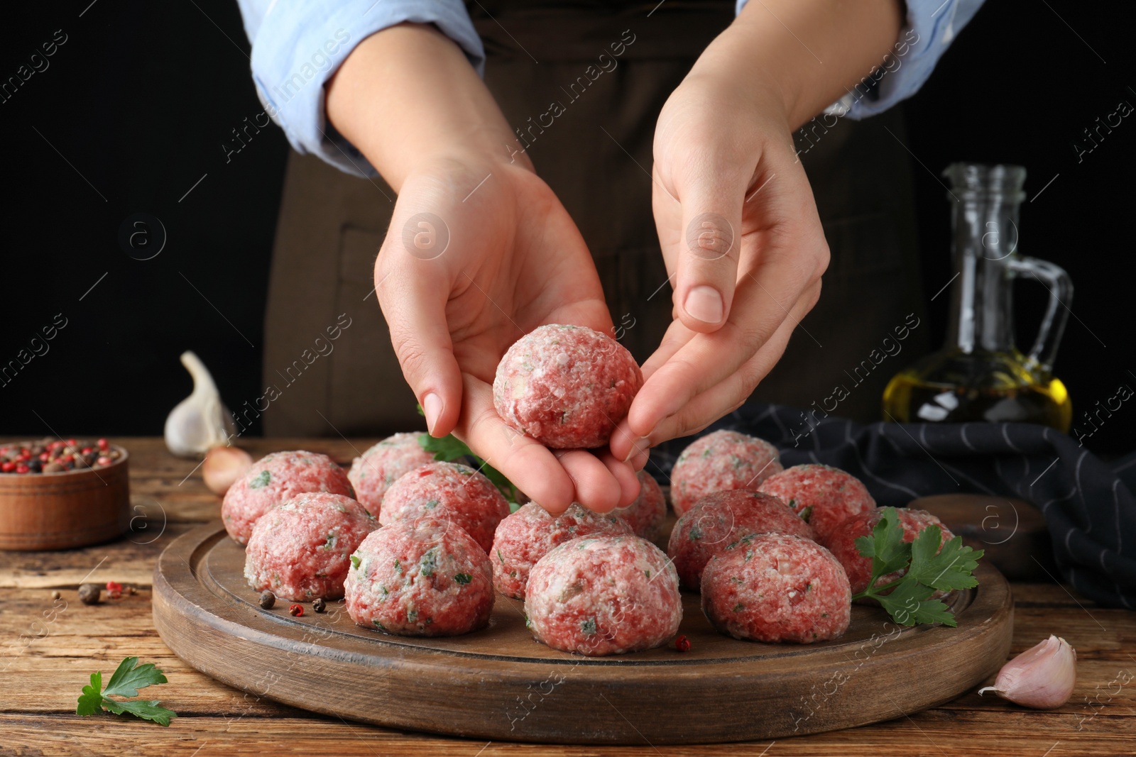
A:
<svg viewBox="0 0 1136 757">
<path fill-rule="evenodd" d="M 327 124 L 324 85 L 365 39 L 402 22 L 434 24 L 481 74 L 485 49 L 461 0 L 237 0 L 265 112 L 298 152 L 348 174 L 376 171 Z"/>
</svg>

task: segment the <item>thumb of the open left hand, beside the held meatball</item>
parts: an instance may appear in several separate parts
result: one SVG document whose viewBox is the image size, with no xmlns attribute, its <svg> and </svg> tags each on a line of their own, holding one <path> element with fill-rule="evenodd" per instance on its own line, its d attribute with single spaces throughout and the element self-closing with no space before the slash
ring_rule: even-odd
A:
<svg viewBox="0 0 1136 757">
<path fill-rule="evenodd" d="M 436 259 L 408 254 L 398 234 L 387 235 L 375 262 L 375 289 L 426 427 L 431 436 L 443 437 L 458 423 L 462 392 L 445 316 L 449 276 Z"/>
</svg>

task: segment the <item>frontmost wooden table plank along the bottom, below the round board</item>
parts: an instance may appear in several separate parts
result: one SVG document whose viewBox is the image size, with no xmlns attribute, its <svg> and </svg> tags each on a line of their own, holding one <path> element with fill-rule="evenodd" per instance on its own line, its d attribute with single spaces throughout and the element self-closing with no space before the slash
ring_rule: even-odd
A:
<svg viewBox="0 0 1136 757">
<path fill-rule="evenodd" d="M 516 742 L 483 742 L 435 739 L 415 733 L 307 717 L 181 717 L 169 729 L 152 723 L 132 723 L 105 717 L 98 721 L 75 716 L 41 717 L 0 714 L 0 733 L 7 743 L 25 746 L 33 755 L 108 755 L 115 757 L 183 757 L 264 755 L 429 755 L 432 757 L 646 757 L 705 755 L 736 757 L 879 757 L 880 755 L 1086 755 L 1118 757 L 1131 754 L 1131 724 L 1099 717 L 1092 731 L 1077 731 L 1076 723 L 1038 727 L 1033 722 L 1009 721 L 997 714 L 970 722 L 949 720 L 917 724 L 908 721 L 812 737 L 757 743 L 686 747 L 580 747 Z"/>
</svg>

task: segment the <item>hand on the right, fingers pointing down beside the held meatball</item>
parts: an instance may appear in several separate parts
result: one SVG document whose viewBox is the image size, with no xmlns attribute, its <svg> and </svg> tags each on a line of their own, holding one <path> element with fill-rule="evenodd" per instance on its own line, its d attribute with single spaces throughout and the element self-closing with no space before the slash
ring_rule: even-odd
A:
<svg viewBox="0 0 1136 757">
<path fill-rule="evenodd" d="M 740 406 L 820 296 L 828 245 L 784 106 L 744 79 L 696 66 L 659 116 L 652 204 L 674 321 L 612 436 L 619 460 Z"/>
</svg>

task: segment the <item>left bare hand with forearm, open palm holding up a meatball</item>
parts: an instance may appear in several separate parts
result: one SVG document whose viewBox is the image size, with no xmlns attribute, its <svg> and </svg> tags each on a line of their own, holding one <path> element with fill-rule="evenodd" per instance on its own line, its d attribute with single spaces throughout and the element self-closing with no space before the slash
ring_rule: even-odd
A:
<svg viewBox="0 0 1136 757">
<path fill-rule="evenodd" d="M 611 318 L 576 225 L 457 45 L 416 25 L 368 37 L 336 74 L 327 112 L 399 192 L 375 287 L 429 432 L 453 432 L 550 512 L 629 504 L 645 453 L 629 464 L 550 451 L 494 410 L 513 342 L 544 323 L 610 333 Z"/>
</svg>

